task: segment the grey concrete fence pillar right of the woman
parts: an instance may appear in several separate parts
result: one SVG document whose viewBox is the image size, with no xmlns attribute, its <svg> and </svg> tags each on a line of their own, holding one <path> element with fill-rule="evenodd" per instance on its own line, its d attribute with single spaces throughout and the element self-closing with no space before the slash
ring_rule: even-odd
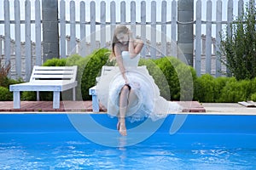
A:
<svg viewBox="0 0 256 170">
<path fill-rule="evenodd" d="M 177 1 L 177 45 L 193 66 L 194 0 Z"/>
</svg>

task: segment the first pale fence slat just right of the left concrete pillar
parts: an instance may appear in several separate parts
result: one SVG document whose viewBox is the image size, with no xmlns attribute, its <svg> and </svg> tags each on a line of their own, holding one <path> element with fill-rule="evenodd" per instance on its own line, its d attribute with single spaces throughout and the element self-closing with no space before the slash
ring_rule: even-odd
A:
<svg viewBox="0 0 256 170">
<path fill-rule="evenodd" d="M 60 26 L 61 26 L 61 39 L 60 39 L 60 49 L 61 58 L 66 58 L 66 9 L 65 1 L 60 2 Z"/>
</svg>

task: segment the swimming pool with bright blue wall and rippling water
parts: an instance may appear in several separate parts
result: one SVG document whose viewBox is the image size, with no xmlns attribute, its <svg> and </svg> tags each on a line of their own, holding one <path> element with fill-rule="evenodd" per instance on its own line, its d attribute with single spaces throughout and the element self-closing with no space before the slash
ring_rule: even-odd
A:
<svg viewBox="0 0 256 170">
<path fill-rule="evenodd" d="M 126 146 L 148 133 L 127 123 L 120 137 L 116 120 L 106 114 L 0 114 L 0 169 L 254 169 L 256 116 L 194 114 L 170 134 L 174 115 L 166 117 L 147 139 Z M 88 121 L 111 131 L 89 128 Z M 86 124 L 80 132 L 72 120 Z M 149 122 L 154 127 L 155 122 Z M 149 127 L 149 128 L 150 128 Z M 113 130 L 113 131 L 112 131 Z M 116 143 L 97 144 L 87 134 Z M 85 137 L 84 137 L 85 136 Z"/>
</svg>

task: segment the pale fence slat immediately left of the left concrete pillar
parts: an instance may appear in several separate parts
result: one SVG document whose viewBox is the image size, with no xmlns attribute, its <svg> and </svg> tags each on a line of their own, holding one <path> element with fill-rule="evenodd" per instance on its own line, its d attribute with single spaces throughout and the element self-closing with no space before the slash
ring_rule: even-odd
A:
<svg viewBox="0 0 256 170">
<path fill-rule="evenodd" d="M 36 11 L 41 11 L 40 1 L 35 1 Z M 36 65 L 42 65 L 42 49 L 41 49 L 41 13 L 35 14 L 35 27 L 36 27 Z"/>
</svg>

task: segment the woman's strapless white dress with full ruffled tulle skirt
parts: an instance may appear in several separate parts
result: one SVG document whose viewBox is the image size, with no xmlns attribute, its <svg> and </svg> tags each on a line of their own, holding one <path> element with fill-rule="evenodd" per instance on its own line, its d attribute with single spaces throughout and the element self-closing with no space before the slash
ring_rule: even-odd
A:
<svg viewBox="0 0 256 170">
<path fill-rule="evenodd" d="M 127 107 L 126 117 L 131 122 L 142 121 L 144 118 L 151 118 L 156 121 L 166 117 L 168 113 L 182 111 L 182 107 L 176 102 L 167 101 L 160 96 L 160 89 L 154 83 L 153 77 L 148 73 L 147 68 L 137 67 L 140 55 L 130 57 L 128 51 L 122 52 L 125 75 L 128 78 L 135 95 L 132 104 Z M 110 116 L 119 115 L 119 93 L 125 85 L 119 67 L 102 76 L 96 84 L 96 94 L 102 105 L 108 108 Z"/>
</svg>

